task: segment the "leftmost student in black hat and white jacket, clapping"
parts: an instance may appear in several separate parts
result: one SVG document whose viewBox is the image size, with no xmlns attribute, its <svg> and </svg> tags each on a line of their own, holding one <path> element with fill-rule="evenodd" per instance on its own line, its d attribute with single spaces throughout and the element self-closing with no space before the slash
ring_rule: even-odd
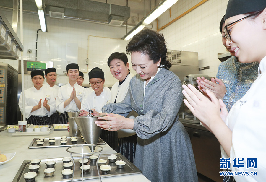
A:
<svg viewBox="0 0 266 182">
<path fill-rule="evenodd" d="M 34 125 L 51 124 L 49 117 L 56 112 L 53 91 L 43 87 L 43 71 L 31 71 L 30 76 L 34 86 L 24 92 L 25 117 L 27 123 Z M 22 112 L 22 93 L 20 94 L 19 108 Z"/>
</svg>

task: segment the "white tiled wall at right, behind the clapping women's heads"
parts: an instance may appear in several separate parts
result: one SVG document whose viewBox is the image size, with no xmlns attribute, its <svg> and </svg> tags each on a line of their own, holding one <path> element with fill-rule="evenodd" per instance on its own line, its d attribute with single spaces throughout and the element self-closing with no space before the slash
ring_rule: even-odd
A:
<svg viewBox="0 0 266 182">
<path fill-rule="evenodd" d="M 159 17 L 159 28 L 201 0 L 179 0 Z M 168 49 L 199 53 L 199 67 L 210 66 L 200 74 L 216 76 L 221 63 L 217 53 L 226 53 L 219 30 L 220 20 L 226 12 L 228 0 L 208 0 L 160 32 L 165 36 Z"/>
</svg>

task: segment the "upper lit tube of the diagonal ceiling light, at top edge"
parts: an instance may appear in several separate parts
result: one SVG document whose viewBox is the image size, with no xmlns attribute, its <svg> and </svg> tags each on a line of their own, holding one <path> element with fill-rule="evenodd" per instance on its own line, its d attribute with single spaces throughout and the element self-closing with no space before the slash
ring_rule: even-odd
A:
<svg viewBox="0 0 266 182">
<path fill-rule="evenodd" d="M 165 0 L 160 6 L 158 6 L 155 11 L 153 11 L 147 18 L 143 20 L 144 25 L 149 25 L 153 20 L 159 17 L 163 12 L 169 9 L 178 0 Z"/>
</svg>

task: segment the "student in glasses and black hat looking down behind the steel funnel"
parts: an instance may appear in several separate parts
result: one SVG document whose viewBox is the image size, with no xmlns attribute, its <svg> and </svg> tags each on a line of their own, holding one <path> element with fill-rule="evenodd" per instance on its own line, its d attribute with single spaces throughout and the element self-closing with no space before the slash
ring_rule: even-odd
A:
<svg viewBox="0 0 266 182">
<path fill-rule="evenodd" d="M 111 91 L 109 88 L 103 87 L 105 79 L 102 69 L 98 67 L 93 68 L 89 72 L 89 80 L 91 88 L 85 90 L 85 97 L 81 103 L 81 111 L 84 113 L 80 114 L 80 116 L 87 116 L 87 111 L 89 111 L 90 108 L 94 108 L 96 111 L 101 112 L 102 107 L 107 103 L 110 103 Z M 102 130 L 100 137 L 110 145 L 110 147 L 117 150 L 118 139 L 116 131 Z"/>
</svg>

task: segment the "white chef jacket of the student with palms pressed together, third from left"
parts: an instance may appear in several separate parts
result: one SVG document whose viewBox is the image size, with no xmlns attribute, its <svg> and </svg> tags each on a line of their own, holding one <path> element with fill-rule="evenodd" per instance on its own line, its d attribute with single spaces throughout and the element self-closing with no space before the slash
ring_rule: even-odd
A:
<svg viewBox="0 0 266 182">
<path fill-rule="evenodd" d="M 82 94 L 84 91 L 84 87 L 78 85 L 77 83 L 74 84 L 75 90 L 76 90 L 76 96 L 82 101 Z M 70 98 L 71 92 L 73 92 L 73 87 L 71 87 L 70 83 L 68 82 L 66 85 L 63 85 L 59 87 L 59 90 L 57 92 L 57 97 L 56 97 L 56 110 L 59 113 L 64 113 L 64 112 L 71 112 L 71 111 L 80 111 L 79 108 L 77 107 L 74 99 L 71 100 L 69 105 L 64 108 L 64 102 Z"/>
</svg>

